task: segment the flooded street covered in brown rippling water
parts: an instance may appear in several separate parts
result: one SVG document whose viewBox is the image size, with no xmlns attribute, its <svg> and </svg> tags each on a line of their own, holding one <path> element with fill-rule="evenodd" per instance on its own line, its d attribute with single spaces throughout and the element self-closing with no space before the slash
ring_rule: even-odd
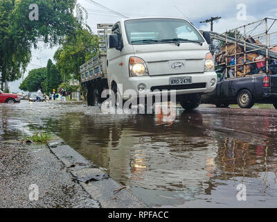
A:
<svg viewBox="0 0 277 222">
<path fill-rule="evenodd" d="M 177 107 L 102 114 L 83 103 L 0 105 L 0 140 L 56 133 L 149 207 L 276 207 L 277 111 Z M 15 138 L 17 139 L 17 138 Z M 238 201 L 238 185 L 247 200 Z"/>
</svg>

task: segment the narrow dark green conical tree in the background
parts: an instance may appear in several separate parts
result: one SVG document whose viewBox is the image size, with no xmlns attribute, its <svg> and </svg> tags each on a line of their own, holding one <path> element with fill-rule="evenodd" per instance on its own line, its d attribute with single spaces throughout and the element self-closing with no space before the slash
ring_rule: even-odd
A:
<svg viewBox="0 0 277 222">
<path fill-rule="evenodd" d="M 46 93 L 53 92 L 53 89 L 57 89 L 62 83 L 62 76 L 60 72 L 57 71 L 57 67 L 53 64 L 52 60 L 48 60 L 47 63 L 47 74 L 46 79 L 44 80 L 44 86 Z"/>
</svg>

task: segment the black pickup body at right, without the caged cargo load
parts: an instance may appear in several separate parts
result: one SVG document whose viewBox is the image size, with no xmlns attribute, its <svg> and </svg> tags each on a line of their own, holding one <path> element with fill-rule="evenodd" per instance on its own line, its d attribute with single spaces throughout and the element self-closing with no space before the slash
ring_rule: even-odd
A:
<svg viewBox="0 0 277 222">
<path fill-rule="evenodd" d="M 231 104 L 252 108 L 254 103 L 265 103 L 273 104 L 277 109 L 277 75 L 226 78 L 223 71 L 216 89 L 202 95 L 202 103 L 215 104 L 217 108 L 228 108 Z"/>
</svg>

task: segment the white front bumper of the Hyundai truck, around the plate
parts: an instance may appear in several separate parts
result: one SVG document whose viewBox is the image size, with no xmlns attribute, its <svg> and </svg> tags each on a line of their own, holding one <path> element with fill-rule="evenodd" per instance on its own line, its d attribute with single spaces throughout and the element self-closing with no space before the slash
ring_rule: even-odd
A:
<svg viewBox="0 0 277 222">
<path fill-rule="evenodd" d="M 170 85 L 170 78 L 184 78 L 191 77 L 192 84 L 187 85 Z M 170 94 L 170 90 L 176 90 L 176 95 L 182 94 L 196 94 L 196 93 L 208 93 L 213 92 L 216 87 L 216 82 L 212 86 L 211 80 L 217 80 L 217 74 L 215 71 L 197 73 L 197 74 L 178 74 L 178 75 L 166 75 L 166 76 L 141 76 L 141 77 L 129 77 L 123 84 L 123 99 L 129 99 L 128 89 L 140 94 L 139 85 L 145 85 L 145 92 L 148 96 Z"/>
</svg>

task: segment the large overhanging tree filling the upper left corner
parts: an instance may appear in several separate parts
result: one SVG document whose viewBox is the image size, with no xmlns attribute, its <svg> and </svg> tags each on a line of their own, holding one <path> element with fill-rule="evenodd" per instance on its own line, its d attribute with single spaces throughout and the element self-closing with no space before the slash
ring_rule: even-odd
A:
<svg viewBox="0 0 277 222">
<path fill-rule="evenodd" d="M 49 46 L 61 43 L 82 26 L 84 10 L 77 0 L 1 0 L 0 1 L 0 73 L 1 83 L 17 80 L 30 62 L 31 49 L 39 38 Z M 29 18 L 31 4 L 39 7 L 38 20 Z M 73 10 L 77 6 L 77 15 Z"/>
</svg>

